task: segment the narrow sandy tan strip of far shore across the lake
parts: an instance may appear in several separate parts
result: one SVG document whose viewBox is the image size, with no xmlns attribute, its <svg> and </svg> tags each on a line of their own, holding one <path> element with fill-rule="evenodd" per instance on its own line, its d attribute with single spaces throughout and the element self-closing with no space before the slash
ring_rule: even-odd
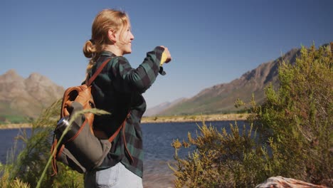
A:
<svg viewBox="0 0 333 188">
<path fill-rule="evenodd" d="M 202 122 L 204 121 L 233 121 L 246 120 L 248 114 L 212 114 L 212 115 L 174 115 L 174 116 L 155 116 L 142 117 L 141 123 L 159 122 Z M 31 123 L 3 124 L 0 130 L 31 128 Z"/>
</svg>

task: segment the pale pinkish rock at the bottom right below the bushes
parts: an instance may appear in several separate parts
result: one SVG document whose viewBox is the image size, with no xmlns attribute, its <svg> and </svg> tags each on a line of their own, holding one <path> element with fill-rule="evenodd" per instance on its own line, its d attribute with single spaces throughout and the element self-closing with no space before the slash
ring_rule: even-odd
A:
<svg viewBox="0 0 333 188">
<path fill-rule="evenodd" d="M 322 185 L 310 184 L 302 182 L 297 179 L 285 178 L 285 177 L 270 177 L 262 184 L 258 184 L 255 188 L 328 188 Z"/>
</svg>

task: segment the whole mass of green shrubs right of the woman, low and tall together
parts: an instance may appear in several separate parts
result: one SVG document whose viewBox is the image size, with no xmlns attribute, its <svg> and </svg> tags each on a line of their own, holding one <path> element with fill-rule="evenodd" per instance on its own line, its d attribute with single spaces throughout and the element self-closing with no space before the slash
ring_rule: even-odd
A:
<svg viewBox="0 0 333 188">
<path fill-rule="evenodd" d="M 302 47 L 295 66 L 281 63 L 279 79 L 263 105 L 236 101 L 250 110 L 250 128 L 227 133 L 203 122 L 196 137 L 174 140 L 176 187 L 255 187 L 277 175 L 333 187 L 332 51 Z M 190 146 L 181 159 L 177 152 Z"/>
</svg>

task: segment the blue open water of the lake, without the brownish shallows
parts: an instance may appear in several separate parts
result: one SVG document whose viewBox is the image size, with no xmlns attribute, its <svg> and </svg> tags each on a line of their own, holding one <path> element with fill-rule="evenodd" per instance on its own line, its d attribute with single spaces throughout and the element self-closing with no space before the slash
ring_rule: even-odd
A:
<svg viewBox="0 0 333 188">
<path fill-rule="evenodd" d="M 221 121 L 221 122 L 206 122 L 206 125 L 212 125 L 217 127 L 218 130 L 226 127 L 229 132 L 230 123 L 234 121 Z M 187 140 L 188 132 L 191 132 L 192 137 L 196 137 L 196 131 L 198 125 L 202 125 L 201 122 L 165 122 L 165 123 L 143 123 L 142 132 L 144 139 L 144 160 L 149 161 L 168 161 L 173 160 L 174 148 L 171 147 L 173 140 L 179 139 Z M 243 127 L 243 122 L 238 122 L 239 127 Z M 31 129 L 25 129 L 28 135 L 31 135 Z M 6 163 L 7 153 L 14 147 L 14 140 L 22 130 L 0 130 L 0 162 Z M 200 133 L 200 132 L 199 132 Z M 18 140 L 16 148 L 16 154 L 24 147 L 21 140 Z M 184 157 L 188 155 L 189 149 L 179 150 L 179 155 Z"/>
</svg>

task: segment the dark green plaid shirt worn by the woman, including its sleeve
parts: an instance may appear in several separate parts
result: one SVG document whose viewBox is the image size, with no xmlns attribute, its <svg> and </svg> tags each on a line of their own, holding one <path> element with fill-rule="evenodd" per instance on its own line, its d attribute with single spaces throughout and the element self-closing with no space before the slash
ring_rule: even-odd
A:
<svg viewBox="0 0 333 188">
<path fill-rule="evenodd" d="M 142 177 L 144 154 L 140 122 L 146 110 L 142 93 L 154 83 L 159 73 L 165 74 L 159 66 L 163 51 L 164 48 L 156 47 L 154 51 L 148 52 L 136 69 L 130 66 L 126 58 L 103 51 L 91 69 L 90 76 L 102 62 L 112 57 L 95 79 L 92 90 L 96 108 L 107 110 L 111 115 L 95 115 L 94 127 L 111 136 L 126 120 L 125 130 L 121 130 L 115 137 L 100 169 L 122 162 L 127 169 Z"/>
</svg>

